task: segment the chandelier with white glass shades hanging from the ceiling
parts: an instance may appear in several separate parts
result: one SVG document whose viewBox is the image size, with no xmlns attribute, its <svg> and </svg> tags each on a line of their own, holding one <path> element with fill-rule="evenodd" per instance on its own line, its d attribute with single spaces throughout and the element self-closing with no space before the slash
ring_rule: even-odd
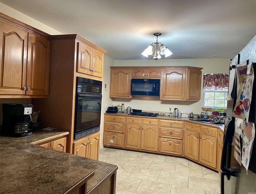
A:
<svg viewBox="0 0 256 194">
<path fill-rule="evenodd" d="M 158 36 L 161 35 L 161 33 L 154 33 L 156 36 L 156 42 L 153 42 L 142 52 L 143 56 L 148 57 L 148 55 L 154 56 L 154 60 L 158 60 L 161 58 L 161 55 L 165 55 L 165 57 L 168 57 L 172 54 L 172 52 L 166 48 L 161 42 L 158 42 Z"/>
</svg>

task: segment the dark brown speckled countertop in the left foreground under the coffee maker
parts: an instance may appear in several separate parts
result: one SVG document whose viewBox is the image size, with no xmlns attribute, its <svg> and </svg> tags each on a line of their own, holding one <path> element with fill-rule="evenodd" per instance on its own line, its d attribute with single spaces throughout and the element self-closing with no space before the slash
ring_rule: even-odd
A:
<svg viewBox="0 0 256 194">
<path fill-rule="evenodd" d="M 0 193 L 62 194 L 86 182 L 87 192 L 116 165 L 31 144 L 68 132 L 33 132 L 22 138 L 0 136 Z"/>
</svg>

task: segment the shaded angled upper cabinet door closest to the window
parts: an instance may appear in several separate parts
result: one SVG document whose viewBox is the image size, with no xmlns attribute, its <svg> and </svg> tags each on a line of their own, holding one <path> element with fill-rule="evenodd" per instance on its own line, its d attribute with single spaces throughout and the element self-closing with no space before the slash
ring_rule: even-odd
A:
<svg viewBox="0 0 256 194">
<path fill-rule="evenodd" d="M 201 98 L 201 70 L 190 70 L 188 69 L 188 85 L 187 85 L 187 96 L 188 100 L 200 100 Z"/>
</svg>

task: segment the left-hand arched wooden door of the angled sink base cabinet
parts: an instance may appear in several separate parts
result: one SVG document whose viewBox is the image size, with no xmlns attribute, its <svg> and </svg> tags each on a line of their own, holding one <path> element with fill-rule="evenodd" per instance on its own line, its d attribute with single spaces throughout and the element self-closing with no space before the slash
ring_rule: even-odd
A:
<svg viewBox="0 0 256 194">
<path fill-rule="evenodd" d="M 199 160 L 199 136 L 197 132 L 185 130 L 185 156 L 197 162 Z"/>
</svg>

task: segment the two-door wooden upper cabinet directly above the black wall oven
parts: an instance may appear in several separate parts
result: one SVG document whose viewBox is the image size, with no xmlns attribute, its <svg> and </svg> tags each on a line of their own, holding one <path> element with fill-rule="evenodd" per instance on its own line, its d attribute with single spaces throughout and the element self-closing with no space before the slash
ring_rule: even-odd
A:
<svg viewBox="0 0 256 194">
<path fill-rule="evenodd" d="M 102 78 L 104 54 L 93 50 L 90 46 L 77 42 L 76 71 Z"/>
</svg>

